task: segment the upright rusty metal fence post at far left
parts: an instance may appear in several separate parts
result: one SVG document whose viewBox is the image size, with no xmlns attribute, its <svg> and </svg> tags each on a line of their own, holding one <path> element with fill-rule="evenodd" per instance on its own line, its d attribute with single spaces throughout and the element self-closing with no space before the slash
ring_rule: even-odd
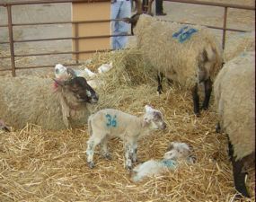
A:
<svg viewBox="0 0 256 202">
<path fill-rule="evenodd" d="M 10 42 L 10 53 L 11 53 L 11 63 L 12 63 L 12 75 L 16 76 L 14 43 L 13 43 L 12 5 L 10 4 L 7 4 L 7 13 L 8 13 L 8 30 L 9 30 L 9 42 Z"/>
</svg>

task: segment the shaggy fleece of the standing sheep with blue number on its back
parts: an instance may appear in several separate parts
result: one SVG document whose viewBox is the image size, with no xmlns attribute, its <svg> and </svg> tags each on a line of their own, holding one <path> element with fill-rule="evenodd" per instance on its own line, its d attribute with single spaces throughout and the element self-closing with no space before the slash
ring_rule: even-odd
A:
<svg viewBox="0 0 256 202">
<path fill-rule="evenodd" d="M 221 45 L 207 28 L 163 22 L 142 14 L 135 35 L 146 61 L 181 87 L 190 88 L 198 83 L 201 74 L 214 81 L 221 68 Z M 204 51 L 209 62 L 200 69 Z"/>
</svg>

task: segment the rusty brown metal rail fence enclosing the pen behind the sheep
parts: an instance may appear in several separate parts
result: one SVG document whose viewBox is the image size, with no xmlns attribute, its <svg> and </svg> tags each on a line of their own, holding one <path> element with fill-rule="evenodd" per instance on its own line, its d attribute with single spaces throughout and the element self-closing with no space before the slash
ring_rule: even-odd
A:
<svg viewBox="0 0 256 202">
<path fill-rule="evenodd" d="M 186 3 L 186 4 L 200 4 L 200 5 L 211 5 L 211 6 L 219 6 L 225 8 L 224 13 L 224 21 L 223 21 L 223 27 L 216 27 L 216 26 L 210 26 L 210 25 L 203 25 L 208 28 L 216 29 L 216 30 L 222 30 L 223 36 L 222 36 L 222 46 L 225 48 L 225 34 L 226 31 L 242 31 L 238 29 L 230 29 L 226 28 L 226 19 L 227 19 L 227 9 L 228 8 L 235 8 L 235 9 L 245 9 L 245 10 L 252 10 L 255 11 L 255 6 L 247 6 L 247 5 L 238 5 L 238 4 L 223 4 L 223 3 L 212 3 L 212 2 L 202 2 L 197 0 L 164 0 L 167 2 L 177 2 L 177 3 Z M 7 57 L 0 57 L 0 58 L 11 58 L 12 68 L 11 69 L 4 69 L 0 71 L 6 71 L 6 70 L 12 70 L 12 75 L 15 76 L 15 69 L 25 69 L 25 68 L 42 68 L 42 67 L 52 67 L 52 66 L 15 66 L 15 57 L 31 57 L 31 56 L 48 56 L 48 55 L 57 55 L 57 54 L 75 54 L 76 56 L 79 56 L 79 53 L 93 53 L 96 52 L 96 50 L 89 50 L 89 51 L 79 51 L 78 46 L 75 46 L 75 51 L 68 51 L 68 52 L 54 52 L 54 53 L 35 53 L 35 54 L 23 54 L 23 55 L 14 55 L 14 43 L 20 43 L 20 42 L 33 42 L 33 41 L 49 41 L 49 40 L 79 40 L 79 39 L 97 39 L 97 38 L 110 38 L 120 35 L 102 35 L 102 36 L 89 36 L 89 37 L 68 37 L 68 38 L 49 38 L 49 39 L 35 39 L 35 40 L 13 40 L 13 26 L 32 26 L 32 25 L 46 25 L 46 24 L 63 24 L 63 23 L 90 23 L 90 22 L 111 22 L 111 21 L 120 21 L 120 19 L 110 19 L 110 20 L 100 20 L 100 21 L 81 21 L 81 22 L 31 22 L 31 23 L 14 23 L 12 22 L 12 5 L 22 5 L 22 4 L 57 4 L 57 3 L 84 3 L 86 1 L 84 0 L 34 0 L 34 1 L 19 1 L 19 2 L 8 2 L 8 3 L 0 3 L 0 6 L 7 7 L 7 14 L 8 14 L 8 24 L 0 24 L 0 27 L 8 27 L 9 30 L 9 41 L 2 41 L 0 44 L 10 44 L 10 54 L 11 56 Z M 88 3 L 93 2 L 110 2 L 110 0 L 87 0 Z M 184 24 L 194 24 L 194 23 L 188 23 L 188 22 L 180 22 Z M 121 35 L 121 36 L 130 36 L 130 35 Z M 105 50 L 103 50 L 105 51 Z M 107 50 L 107 51 L 110 51 Z M 76 57 L 76 64 L 78 65 L 79 58 Z M 69 64 L 70 65 L 70 64 Z M 70 65 L 72 66 L 72 65 Z"/>
</svg>

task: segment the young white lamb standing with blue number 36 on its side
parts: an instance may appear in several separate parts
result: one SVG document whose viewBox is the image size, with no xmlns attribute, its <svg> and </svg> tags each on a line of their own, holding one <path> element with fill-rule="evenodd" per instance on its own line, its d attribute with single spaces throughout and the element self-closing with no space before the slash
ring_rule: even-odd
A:
<svg viewBox="0 0 256 202">
<path fill-rule="evenodd" d="M 93 153 L 96 145 L 101 143 L 102 154 L 110 158 L 107 141 L 110 137 L 118 136 L 124 141 L 125 167 L 130 170 L 132 162 L 137 162 L 137 140 L 148 135 L 154 129 L 164 129 L 163 115 L 146 105 L 145 113 L 141 117 L 124 113 L 120 110 L 99 110 L 88 119 L 90 138 L 87 142 L 87 162 L 93 168 Z"/>
</svg>

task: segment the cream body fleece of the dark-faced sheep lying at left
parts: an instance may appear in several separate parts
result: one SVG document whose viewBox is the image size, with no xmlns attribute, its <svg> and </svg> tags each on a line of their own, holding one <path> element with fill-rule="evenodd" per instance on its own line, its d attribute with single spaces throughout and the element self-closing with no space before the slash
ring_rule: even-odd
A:
<svg viewBox="0 0 256 202">
<path fill-rule="evenodd" d="M 50 78 L 2 77 L 0 82 L 0 116 L 14 128 L 27 123 L 44 129 L 65 129 L 61 110 L 61 93 L 55 91 Z M 84 126 L 89 117 L 86 106 L 71 111 L 71 127 Z"/>
</svg>

